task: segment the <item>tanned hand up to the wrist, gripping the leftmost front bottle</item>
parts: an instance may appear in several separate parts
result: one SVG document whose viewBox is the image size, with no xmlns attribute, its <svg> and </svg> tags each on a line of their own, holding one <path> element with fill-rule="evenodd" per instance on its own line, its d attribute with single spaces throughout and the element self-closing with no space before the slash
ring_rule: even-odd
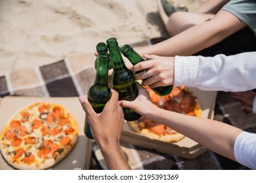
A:
<svg viewBox="0 0 256 183">
<path fill-rule="evenodd" d="M 91 133 L 100 148 L 105 149 L 110 144 L 119 144 L 123 129 L 123 110 L 118 103 L 118 93 L 112 91 L 110 101 L 106 103 L 103 111 L 97 114 L 85 96 L 80 96 L 79 101 L 87 114 Z"/>
</svg>

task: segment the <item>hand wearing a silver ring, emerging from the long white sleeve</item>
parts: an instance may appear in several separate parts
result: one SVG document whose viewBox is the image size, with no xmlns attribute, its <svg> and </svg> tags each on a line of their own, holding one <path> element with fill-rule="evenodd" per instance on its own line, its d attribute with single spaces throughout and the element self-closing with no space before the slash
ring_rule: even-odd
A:
<svg viewBox="0 0 256 183">
<path fill-rule="evenodd" d="M 142 61 L 133 66 L 133 72 L 148 69 L 149 78 L 146 78 L 144 72 L 135 75 L 136 80 L 143 80 L 142 86 L 156 88 L 158 86 L 169 86 L 174 82 L 174 58 L 160 57 L 155 55 L 144 55 L 144 58 L 150 59 Z"/>
</svg>

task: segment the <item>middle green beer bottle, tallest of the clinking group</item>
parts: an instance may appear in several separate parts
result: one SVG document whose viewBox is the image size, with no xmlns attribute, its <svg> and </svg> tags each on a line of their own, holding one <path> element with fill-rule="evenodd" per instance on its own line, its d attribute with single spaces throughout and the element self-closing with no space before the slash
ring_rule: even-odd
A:
<svg viewBox="0 0 256 183">
<path fill-rule="evenodd" d="M 119 93 L 119 100 L 133 101 L 139 93 L 133 72 L 125 66 L 116 38 L 112 37 L 106 42 L 114 69 L 111 78 L 113 87 Z M 127 121 L 138 120 L 141 117 L 131 108 L 123 108 L 123 115 Z"/>
</svg>

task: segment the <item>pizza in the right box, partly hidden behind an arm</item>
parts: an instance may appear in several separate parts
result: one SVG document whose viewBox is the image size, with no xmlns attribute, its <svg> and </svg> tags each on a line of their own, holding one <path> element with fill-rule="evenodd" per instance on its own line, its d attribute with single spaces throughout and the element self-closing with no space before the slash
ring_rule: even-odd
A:
<svg viewBox="0 0 256 183">
<path fill-rule="evenodd" d="M 198 99 L 192 92 L 190 92 L 190 90 L 188 90 L 188 88 L 184 86 L 179 88 L 173 86 L 172 92 L 164 97 L 157 95 L 149 87 L 146 87 L 146 89 L 148 90 L 154 105 L 160 108 L 190 116 L 200 117 L 202 115 L 202 110 Z M 142 118 L 137 121 L 128 123 L 135 132 L 149 137 L 150 139 L 165 142 L 178 142 L 185 137 L 170 127 L 167 127 L 159 122 L 149 120 L 145 116 L 142 116 Z"/>
</svg>

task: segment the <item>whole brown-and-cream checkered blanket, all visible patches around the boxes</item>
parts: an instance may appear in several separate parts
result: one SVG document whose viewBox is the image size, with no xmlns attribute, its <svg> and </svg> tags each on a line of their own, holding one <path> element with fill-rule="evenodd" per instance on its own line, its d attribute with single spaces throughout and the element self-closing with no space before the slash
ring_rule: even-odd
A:
<svg viewBox="0 0 256 183">
<path fill-rule="evenodd" d="M 163 39 L 152 39 L 132 46 L 145 46 Z M 95 79 L 93 52 L 74 53 L 49 65 L 20 69 L 0 76 L 0 96 L 75 97 L 87 95 Z M 219 92 L 215 105 L 215 120 L 256 132 L 256 116 L 240 110 L 241 103 Z M 246 119 L 246 120 L 244 120 Z M 121 143 L 132 169 L 247 169 L 210 150 L 194 159 L 180 158 L 156 150 Z M 93 143 L 91 169 L 106 169 L 104 159 Z"/>
</svg>

